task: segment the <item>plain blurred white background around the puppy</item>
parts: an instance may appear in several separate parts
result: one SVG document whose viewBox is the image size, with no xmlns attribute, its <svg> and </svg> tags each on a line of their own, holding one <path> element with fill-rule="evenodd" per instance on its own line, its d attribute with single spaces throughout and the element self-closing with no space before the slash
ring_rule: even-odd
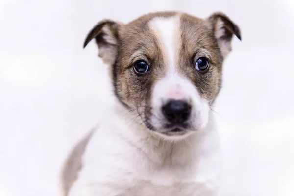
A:
<svg viewBox="0 0 294 196">
<path fill-rule="evenodd" d="M 62 161 L 112 94 L 86 34 L 160 10 L 222 11 L 241 28 L 214 109 L 224 195 L 294 195 L 293 0 L 0 0 L 0 196 L 58 195 Z"/>
</svg>

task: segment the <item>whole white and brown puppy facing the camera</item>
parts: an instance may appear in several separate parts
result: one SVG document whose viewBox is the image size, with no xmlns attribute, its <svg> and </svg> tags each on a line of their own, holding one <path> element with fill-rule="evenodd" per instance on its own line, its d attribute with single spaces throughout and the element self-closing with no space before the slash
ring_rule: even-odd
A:
<svg viewBox="0 0 294 196">
<path fill-rule="evenodd" d="M 233 34 L 241 39 L 222 13 L 200 19 L 158 12 L 128 24 L 98 23 L 84 46 L 95 38 L 118 101 L 67 159 L 63 195 L 217 195 L 219 142 L 210 105 Z"/>
</svg>

